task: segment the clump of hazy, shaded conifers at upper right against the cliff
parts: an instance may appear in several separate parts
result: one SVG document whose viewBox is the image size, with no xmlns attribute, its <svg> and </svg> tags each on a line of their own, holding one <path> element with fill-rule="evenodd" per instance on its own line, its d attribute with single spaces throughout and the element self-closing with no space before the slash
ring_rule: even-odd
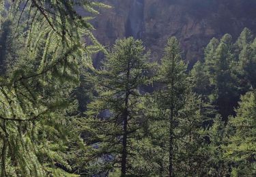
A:
<svg viewBox="0 0 256 177">
<path fill-rule="evenodd" d="M 255 45 L 254 36 L 244 29 L 233 42 L 229 34 L 218 40 L 213 38 L 205 48 L 204 61 L 193 68 L 195 91 L 205 103 L 216 106 L 227 123 L 229 115 L 235 115 L 240 95 L 254 87 Z M 197 77 L 200 76 L 200 77 Z"/>
</svg>

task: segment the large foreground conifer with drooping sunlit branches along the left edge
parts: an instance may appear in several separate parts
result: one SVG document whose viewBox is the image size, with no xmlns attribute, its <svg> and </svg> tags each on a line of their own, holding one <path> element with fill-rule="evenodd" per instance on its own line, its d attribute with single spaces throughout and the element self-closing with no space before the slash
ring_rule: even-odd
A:
<svg viewBox="0 0 256 177">
<path fill-rule="evenodd" d="M 76 140 L 66 131 L 76 108 L 72 91 L 86 59 L 102 46 L 91 35 L 88 18 L 74 12 L 75 1 L 5 1 L 1 10 L 6 3 L 10 8 L 1 18 L 11 21 L 13 35 L 2 42 L 15 39 L 21 47 L 15 56 L 12 46 L 1 48 L 10 63 L 0 78 L 1 176 L 68 175 L 68 138 Z M 97 5 L 79 4 L 90 10 Z M 83 35 L 93 45 L 85 48 Z"/>
</svg>

